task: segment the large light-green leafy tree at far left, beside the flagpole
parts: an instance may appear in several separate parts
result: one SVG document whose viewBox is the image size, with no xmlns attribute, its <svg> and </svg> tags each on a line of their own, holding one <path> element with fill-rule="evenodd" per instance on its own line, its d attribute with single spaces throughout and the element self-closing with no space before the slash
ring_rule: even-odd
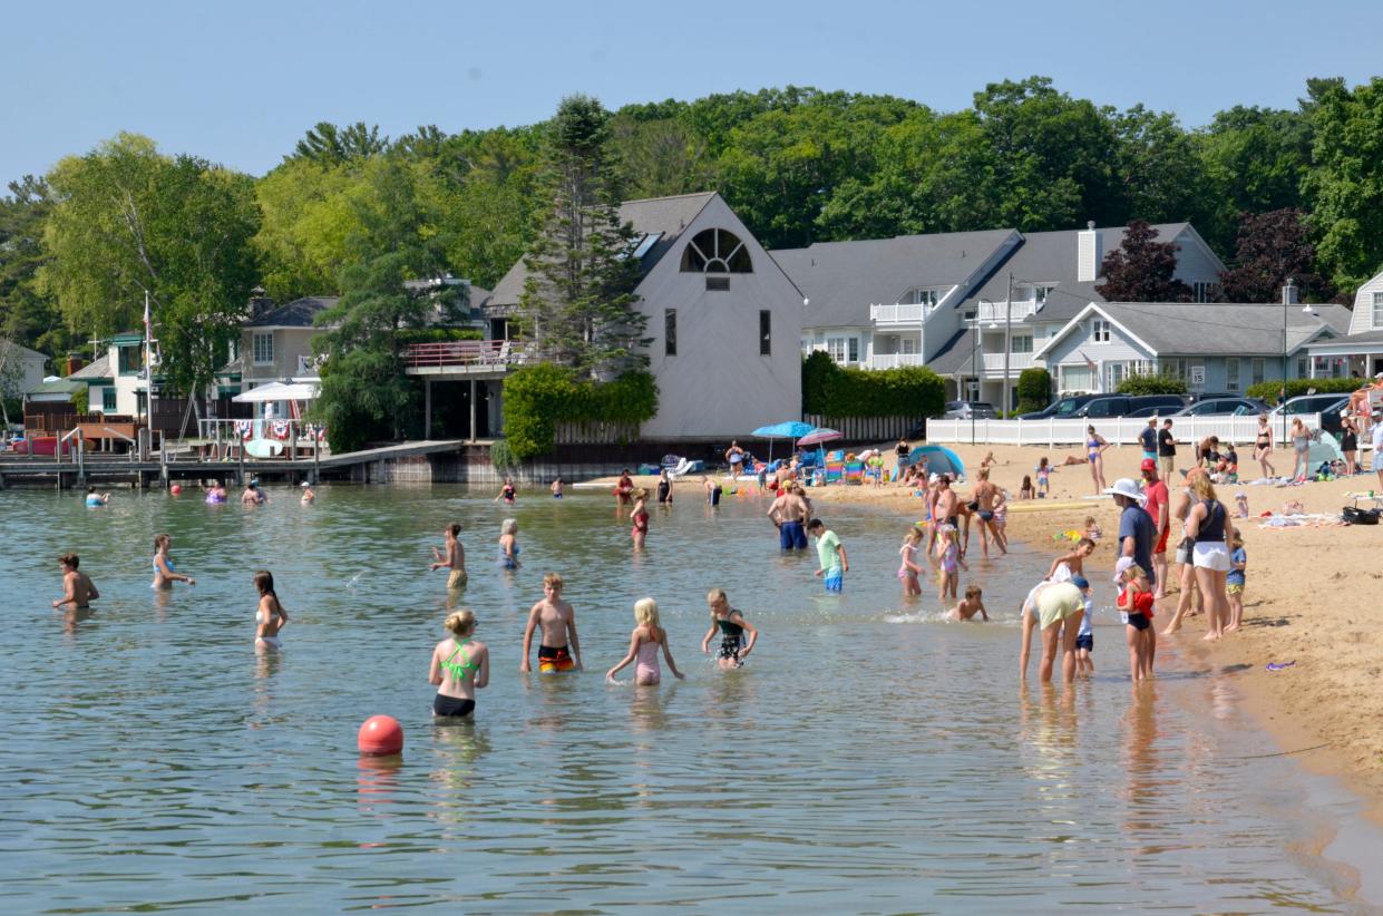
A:
<svg viewBox="0 0 1383 916">
<path fill-rule="evenodd" d="M 159 374 L 181 394 L 205 389 L 256 282 L 250 178 L 120 134 L 59 162 L 48 183 L 40 292 L 95 336 L 140 327 L 148 295 Z"/>
</svg>

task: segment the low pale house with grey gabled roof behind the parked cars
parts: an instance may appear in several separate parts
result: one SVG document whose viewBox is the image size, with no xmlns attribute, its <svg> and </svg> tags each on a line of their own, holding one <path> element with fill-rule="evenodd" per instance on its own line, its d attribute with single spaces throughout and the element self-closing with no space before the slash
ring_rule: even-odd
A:
<svg viewBox="0 0 1383 916">
<path fill-rule="evenodd" d="M 1348 327 L 1344 306 L 1091 302 L 1033 354 L 1059 394 L 1113 392 L 1129 375 L 1174 375 L 1192 394 L 1242 393 L 1307 374 L 1306 347 Z"/>
</svg>

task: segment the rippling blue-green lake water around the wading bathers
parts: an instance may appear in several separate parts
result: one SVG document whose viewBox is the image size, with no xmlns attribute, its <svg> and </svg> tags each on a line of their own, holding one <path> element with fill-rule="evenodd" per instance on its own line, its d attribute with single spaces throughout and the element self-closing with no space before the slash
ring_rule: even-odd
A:
<svg viewBox="0 0 1383 916">
<path fill-rule="evenodd" d="M 935 596 L 899 596 L 906 520 L 864 509 L 831 512 L 852 571 L 828 596 L 815 551 L 780 556 L 757 500 L 656 509 L 631 558 L 607 495 L 270 493 L 242 509 L 122 491 L 101 511 L 0 494 L 10 614 L 28 621 L 0 649 L 8 912 L 1366 909 L 1314 852 L 1357 803 L 1261 757 L 1279 749 L 1243 721 L 1234 672 L 1163 650 L 1135 696 L 1105 610 L 1093 684 L 1043 690 L 1034 659 L 1019 690 L 1017 603 L 1046 556 L 981 565 L 996 621 L 950 624 Z M 516 574 L 494 562 L 506 515 Z M 492 671 L 474 724 L 440 728 L 445 574 L 426 567 L 452 520 Z M 158 531 L 195 588 L 149 589 Z M 50 609 L 68 549 L 102 591 L 84 620 Z M 259 567 L 292 614 L 267 659 Z M 577 607 L 582 675 L 519 672 L 548 570 Z M 698 652 L 716 585 L 762 631 L 729 674 Z M 643 595 L 687 679 L 607 685 Z M 375 713 L 402 722 L 400 760 L 357 755 Z M 1376 862 L 1377 833 L 1353 823 Z"/>
</svg>

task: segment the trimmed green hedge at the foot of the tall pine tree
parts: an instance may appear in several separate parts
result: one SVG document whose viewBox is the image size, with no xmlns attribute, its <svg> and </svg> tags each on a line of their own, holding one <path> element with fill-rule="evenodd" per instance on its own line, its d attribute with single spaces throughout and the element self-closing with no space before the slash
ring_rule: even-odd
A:
<svg viewBox="0 0 1383 916">
<path fill-rule="evenodd" d="M 644 371 L 597 383 L 541 363 L 512 372 L 503 397 L 505 439 L 513 461 L 552 451 L 557 421 L 638 425 L 658 412 L 658 386 Z"/>
</svg>

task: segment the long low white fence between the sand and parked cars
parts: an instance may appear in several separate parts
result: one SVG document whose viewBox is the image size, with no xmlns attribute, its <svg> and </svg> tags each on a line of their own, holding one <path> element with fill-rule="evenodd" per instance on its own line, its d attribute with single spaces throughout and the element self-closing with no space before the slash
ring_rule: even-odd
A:
<svg viewBox="0 0 1383 916">
<path fill-rule="evenodd" d="M 1296 416 L 1296 415 L 1293 415 Z M 1300 414 L 1301 422 L 1310 430 L 1321 428 L 1319 414 Z M 1148 418 L 1124 416 L 1087 419 L 929 419 L 927 421 L 927 441 L 929 443 L 976 443 L 986 446 L 1079 446 L 1086 441 L 1088 426 L 1094 426 L 1105 441 L 1116 446 L 1138 443 L 1138 433 L 1148 428 Z M 1272 425 L 1274 439 L 1282 439 L 1281 419 Z M 1158 419 L 1162 429 L 1162 418 Z M 1253 443 L 1259 433 L 1257 415 L 1250 416 L 1177 416 L 1171 421 L 1171 432 L 1177 441 L 1199 443 L 1206 436 L 1218 436 L 1221 443 L 1245 446 Z M 1362 439 L 1362 437 L 1361 437 Z M 1278 444 L 1282 444 L 1281 441 Z M 1243 461 L 1243 455 L 1239 457 Z"/>
</svg>

